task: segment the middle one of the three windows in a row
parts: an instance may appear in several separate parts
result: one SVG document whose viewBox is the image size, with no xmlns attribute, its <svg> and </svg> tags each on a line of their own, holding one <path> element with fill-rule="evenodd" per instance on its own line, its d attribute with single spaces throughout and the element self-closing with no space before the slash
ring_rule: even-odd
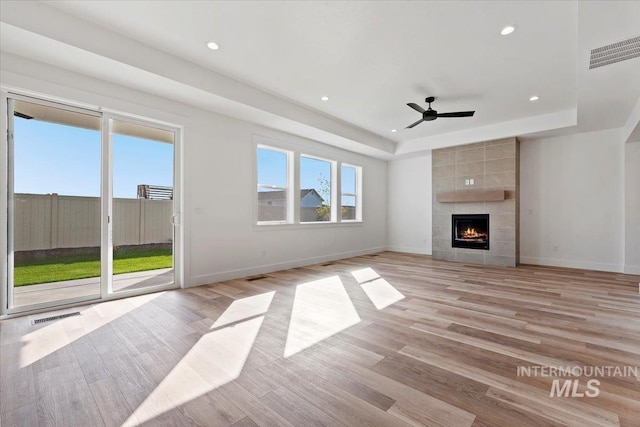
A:
<svg viewBox="0 0 640 427">
<path fill-rule="evenodd" d="M 300 222 L 331 221 L 332 162 L 300 156 Z"/>
</svg>

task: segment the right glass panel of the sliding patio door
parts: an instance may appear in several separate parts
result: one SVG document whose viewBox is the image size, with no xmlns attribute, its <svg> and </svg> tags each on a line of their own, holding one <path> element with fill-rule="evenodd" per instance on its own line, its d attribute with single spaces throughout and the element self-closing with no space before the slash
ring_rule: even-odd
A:
<svg viewBox="0 0 640 427">
<path fill-rule="evenodd" d="M 175 132 L 111 120 L 112 292 L 174 282 Z"/>
</svg>

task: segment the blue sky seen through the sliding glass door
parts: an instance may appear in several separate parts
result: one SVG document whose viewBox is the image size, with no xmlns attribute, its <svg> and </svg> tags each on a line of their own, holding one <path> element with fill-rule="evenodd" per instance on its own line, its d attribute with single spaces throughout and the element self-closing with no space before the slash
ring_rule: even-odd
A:
<svg viewBox="0 0 640 427">
<path fill-rule="evenodd" d="M 14 191 L 100 195 L 100 132 L 14 117 Z M 113 195 L 138 184 L 173 186 L 173 145 L 115 134 Z"/>
</svg>

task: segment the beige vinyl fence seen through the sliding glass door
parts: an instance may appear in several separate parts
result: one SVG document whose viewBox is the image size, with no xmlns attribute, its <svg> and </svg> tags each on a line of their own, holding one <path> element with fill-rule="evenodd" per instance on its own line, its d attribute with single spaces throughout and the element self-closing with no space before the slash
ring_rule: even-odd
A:
<svg viewBox="0 0 640 427">
<path fill-rule="evenodd" d="M 14 250 L 100 246 L 100 198 L 14 195 Z M 173 240 L 172 200 L 114 199 L 113 244 Z"/>
</svg>

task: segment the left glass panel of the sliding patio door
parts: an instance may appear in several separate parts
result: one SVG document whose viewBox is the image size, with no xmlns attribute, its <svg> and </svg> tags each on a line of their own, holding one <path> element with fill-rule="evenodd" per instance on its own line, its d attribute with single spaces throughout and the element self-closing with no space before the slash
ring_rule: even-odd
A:
<svg viewBox="0 0 640 427">
<path fill-rule="evenodd" d="M 21 100 L 9 110 L 11 305 L 100 298 L 100 117 Z"/>
</svg>

